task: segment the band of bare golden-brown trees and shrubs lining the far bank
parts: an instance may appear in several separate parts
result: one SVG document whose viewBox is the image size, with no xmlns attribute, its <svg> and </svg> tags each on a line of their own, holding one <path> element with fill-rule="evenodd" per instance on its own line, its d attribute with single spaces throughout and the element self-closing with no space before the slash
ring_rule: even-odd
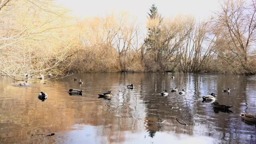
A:
<svg viewBox="0 0 256 144">
<path fill-rule="evenodd" d="M 207 21 L 127 13 L 79 21 L 54 1 L 0 1 L 0 72 L 256 73 L 256 1 L 224 0 Z M 146 13 L 146 12 L 145 12 Z M 147 28 L 142 35 L 141 29 Z"/>
</svg>

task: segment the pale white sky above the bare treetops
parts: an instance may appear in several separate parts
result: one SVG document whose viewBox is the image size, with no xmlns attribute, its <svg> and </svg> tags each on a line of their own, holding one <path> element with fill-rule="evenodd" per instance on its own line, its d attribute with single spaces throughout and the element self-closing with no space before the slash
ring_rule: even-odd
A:
<svg viewBox="0 0 256 144">
<path fill-rule="evenodd" d="M 220 9 L 219 0 L 56 0 L 56 4 L 69 8 L 81 19 L 125 11 L 141 22 L 147 20 L 152 4 L 164 17 L 189 14 L 197 20 L 207 19 L 212 12 Z"/>
</svg>

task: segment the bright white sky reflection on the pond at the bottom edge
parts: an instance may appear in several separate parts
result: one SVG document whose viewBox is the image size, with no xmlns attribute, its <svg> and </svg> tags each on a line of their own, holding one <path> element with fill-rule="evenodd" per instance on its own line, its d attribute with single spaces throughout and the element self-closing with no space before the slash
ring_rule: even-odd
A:
<svg viewBox="0 0 256 144">
<path fill-rule="evenodd" d="M 87 125 L 75 125 L 75 129 L 67 132 L 59 138 L 62 143 L 62 138 L 65 140 L 64 143 L 72 144 L 107 144 L 110 143 L 106 136 L 101 136 L 103 126 L 87 126 Z M 118 132 L 113 133 L 110 139 L 113 140 L 111 143 L 116 143 L 115 138 L 119 134 Z M 209 136 L 188 136 L 185 134 L 175 134 L 175 132 L 156 132 L 153 138 L 148 136 L 147 132 L 132 133 L 124 132 L 125 142 L 124 144 L 215 144 L 219 143 L 218 140 L 214 140 Z M 118 143 L 118 142 L 117 142 Z"/>
</svg>

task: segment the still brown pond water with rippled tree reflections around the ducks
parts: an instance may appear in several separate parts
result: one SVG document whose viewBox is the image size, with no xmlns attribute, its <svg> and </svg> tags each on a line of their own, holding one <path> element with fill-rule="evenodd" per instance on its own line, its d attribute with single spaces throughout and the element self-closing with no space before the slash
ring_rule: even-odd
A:
<svg viewBox="0 0 256 144">
<path fill-rule="evenodd" d="M 171 79 L 171 75 L 175 78 Z M 79 86 L 81 79 L 84 83 Z M 0 143 L 56 144 L 255 144 L 255 124 L 241 112 L 256 113 L 255 77 L 184 73 L 79 73 L 59 80 L 29 81 L 17 86 L 0 78 Z M 44 84 L 45 83 L 45 84 Z M 133 90 L 127 89 L 133 84 Z M 170 92 L 177 87 L 184 95 Z M 230 87 L 231 93 L 223 90 Z M 71 88 L 83 96 L 69 95 Z M 167 97 L 159 93 L 167 90 Z M 113 92 L 111 100 L 97 94 Z M 38 99 L 39 92 L 48 99 Z M 202 96 L 233 105 L 216 111 Z M 188 126 L 182 125 L 180 118 Z M 56 133 L 54 136 L 35 135 Z"/>
</svg>

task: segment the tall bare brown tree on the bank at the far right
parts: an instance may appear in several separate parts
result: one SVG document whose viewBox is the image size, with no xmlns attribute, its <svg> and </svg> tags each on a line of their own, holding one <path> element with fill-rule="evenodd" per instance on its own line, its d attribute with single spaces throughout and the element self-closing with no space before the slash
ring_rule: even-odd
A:
<svg viewBox="0 0 256 144">
<path fill-rule="evenodd" d="M 222 47 L 218 55 L 233 67 L 241 66 L 244 73 L 255 74 L 256 1 L 226 0 L 221 6 L 216 19 L 222 30 L 216 41 Z"/>
</svg>

